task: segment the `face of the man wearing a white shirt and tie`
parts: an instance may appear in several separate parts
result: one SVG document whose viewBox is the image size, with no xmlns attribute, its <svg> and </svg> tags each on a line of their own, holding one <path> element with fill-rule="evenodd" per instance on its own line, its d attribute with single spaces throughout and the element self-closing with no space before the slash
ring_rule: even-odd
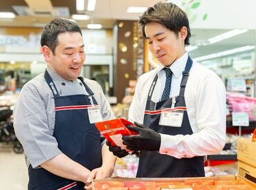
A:
<svg viewBox="0 0 256 190">
<path fill-rule="evenodd" d="M 176 35 L 161 23 L 147 23 L 145 35 L 149 50 L 163 66 L 170 66 L 185 53 L 184 39 L 180 32 Z"/>
</svg>

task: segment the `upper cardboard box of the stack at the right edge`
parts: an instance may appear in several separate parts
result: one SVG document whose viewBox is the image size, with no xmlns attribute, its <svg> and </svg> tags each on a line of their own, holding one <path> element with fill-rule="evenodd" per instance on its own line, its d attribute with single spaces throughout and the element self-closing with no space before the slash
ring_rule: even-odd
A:
<svg viewBox="0 0 256 190">
<path fill-rule="evenodd" d="M 256 142 L 251 142 L 250 139 L 246 138 L 239 138 L 237 140 L 237 160 L 256 167 Z"/>
</svg>

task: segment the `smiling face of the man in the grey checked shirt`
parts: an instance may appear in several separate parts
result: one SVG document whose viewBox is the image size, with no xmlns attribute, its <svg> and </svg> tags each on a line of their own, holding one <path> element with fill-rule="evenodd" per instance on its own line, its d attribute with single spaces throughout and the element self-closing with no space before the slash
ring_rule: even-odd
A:
<svg viewBox="0 0 256 190">
<path fill-rule="evenodd" d="M 79 32 L 65 32 L 57 40 L 55 55 L 50 53 L 48 65 L 64 79 L 77 79 L 85 60 L 82 36 Z"/>
</svg>

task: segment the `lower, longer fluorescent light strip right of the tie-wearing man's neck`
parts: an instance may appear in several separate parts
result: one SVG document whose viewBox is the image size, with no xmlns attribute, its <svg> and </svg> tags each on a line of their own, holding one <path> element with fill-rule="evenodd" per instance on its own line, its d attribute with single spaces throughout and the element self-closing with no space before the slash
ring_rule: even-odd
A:
<svg viewBox="0 0 256 190">
<path fill-rule="evenodd" d="M 214 59 L 216 57 L 223 57 L 225 55 L 240 53 L 240 52 L 243 52 L 243 51 L 246 51 L 246 50 L 253 50 L 254 48 L 255 48 L 255 46 L 242 46 L 240 48 L 235 48 L 235 49 L 231 49 L 231 50 L 221 51 L 219 53 L 213 53 L 213 54 L 210 54 L 210 55 L 196 57 L 196 58 L 194 58 L 194 60 L 195 61 L 203 61 L 203 60 L 207 60 L 207 59 Z"/>
</svg>

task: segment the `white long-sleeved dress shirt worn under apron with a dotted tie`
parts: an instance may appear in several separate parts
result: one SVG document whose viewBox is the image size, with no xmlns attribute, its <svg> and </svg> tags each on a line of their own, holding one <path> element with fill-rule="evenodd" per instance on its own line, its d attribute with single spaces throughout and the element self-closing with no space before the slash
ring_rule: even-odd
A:
<svg viewBox="0 0 256 190">
<path fill-rule="evenodd" d="M 173 72 L 170 97 L 179 95 L 182 72 L 187 59 L 188 53 L 185 53 L 170 66 Z M 152 101 L 160 101 L 165 87 L 163 66 L 138 78 L 129 108 L 131 122 L 143 123 L 147 95 L 155 75 L 158 75 L 158 81 L 152 94 Z M 159 152 L 175 158 L 192 158 L 221 151 L 226 143 L 226 88 L 212 70 L 195 61 L 185 88 L 185 104 L 193 134 L 161 134 Z"/>
</svg>

